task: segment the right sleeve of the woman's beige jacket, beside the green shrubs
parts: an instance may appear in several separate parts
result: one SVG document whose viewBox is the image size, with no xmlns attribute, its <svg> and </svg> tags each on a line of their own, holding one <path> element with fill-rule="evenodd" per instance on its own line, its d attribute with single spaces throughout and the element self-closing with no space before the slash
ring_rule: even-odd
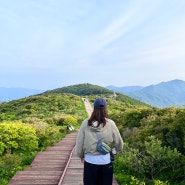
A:
<svg viewBox="0 0 185 185">
<path fill-rule="evenodd" d="M 113 143 L 117 152 L 121 152 L 123 150 L 123 139 L 115 123 L 113 124 Z"/>
</svg>

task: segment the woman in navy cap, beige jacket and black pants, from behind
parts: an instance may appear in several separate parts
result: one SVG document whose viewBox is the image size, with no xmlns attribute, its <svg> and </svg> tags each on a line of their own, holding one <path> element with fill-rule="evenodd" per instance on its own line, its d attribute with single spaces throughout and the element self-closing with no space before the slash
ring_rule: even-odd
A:
<svg viewBox="0 0 185 185">
<path fill-rule="evenodd" d="M 76 154 L 84 162 L 84 185 L 112 185 L 113 166 L 110 153 L 97 151 L 98 136 L 117 152 L 123 149 L 123 140 L 116 124 L 108 119 L 107 103 L 103 98 L 94 101 L 94 110 L 85 119 L 76 139 Z"/>
</svg>

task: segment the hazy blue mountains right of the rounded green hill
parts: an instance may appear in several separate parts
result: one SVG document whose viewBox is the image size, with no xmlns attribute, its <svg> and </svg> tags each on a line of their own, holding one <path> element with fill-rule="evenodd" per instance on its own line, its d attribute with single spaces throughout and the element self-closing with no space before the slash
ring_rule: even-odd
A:
<svg viewBox="0 0 185 185">
<path fill-rule="evenodd" d="M 171 80 L 146 87 L 126 86 L 118 88 L 108 86 L 107 88 L 126 94 L 154 107 L 164 108 L 185 105 L 185 81 L 183 80 Z"/>
</svg>

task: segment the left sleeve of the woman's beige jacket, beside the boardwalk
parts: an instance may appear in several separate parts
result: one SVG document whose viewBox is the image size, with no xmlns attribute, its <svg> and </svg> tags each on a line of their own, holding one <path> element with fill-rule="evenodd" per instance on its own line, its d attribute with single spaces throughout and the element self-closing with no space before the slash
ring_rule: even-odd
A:
<svg viewBox="0 0 185 185">
<path fill-rule="evenodd" d="M 83 130 L 83 123 L 82 123 L 80 130 L 77 134 L 76 146 L 75 146 L 76 155 L 80 158 L 84 157 L 83 145 L 84 145 L 84 130 Z"/>
</svg>

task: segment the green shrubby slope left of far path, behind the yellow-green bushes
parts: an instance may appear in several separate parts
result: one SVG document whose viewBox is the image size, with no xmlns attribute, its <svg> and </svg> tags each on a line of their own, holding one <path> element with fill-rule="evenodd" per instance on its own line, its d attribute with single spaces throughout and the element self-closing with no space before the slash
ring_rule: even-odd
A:
<svg viewBox="0 0 185 185">
<path fill-rule="evenodd" d="M 0 104 L 0 121 L 27 117 L 44 120 L 63 114 L 84 117 L 86 114 L 81 98 L 73 94 L 43 94 Z"/>
</svg>

